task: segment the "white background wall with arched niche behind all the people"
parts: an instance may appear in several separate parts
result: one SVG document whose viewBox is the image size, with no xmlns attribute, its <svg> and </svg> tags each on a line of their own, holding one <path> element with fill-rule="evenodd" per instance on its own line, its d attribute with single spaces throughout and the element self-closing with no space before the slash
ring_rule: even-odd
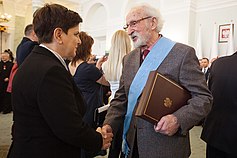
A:
<svg viewBox="0 0 237 158">
<path fill-rule="evenodd" d="M 14 4 L 14 0 L 7 0 L 6 10 L 13 15 L 12 21 L 7 23 L 9 35 L 4 47 L 14 50 L 15 24 L 14 15 L 24 17 L 25 24 L 32 22 L 32 4 L 27 6 Z M 81 30 L 87 31 L 95 39 L 93 52 L 104 53 L 110 48 L 113 33 L 123 28 L 125 15 L 129 8 L 138 3 L 149 3 L 160 8 L 165 24 L 162 34 L 177 42 L 196 47 L 198 27 L 202 25 L 202 46 L 204 56 L 209 56 L 213 25 L 235 24 L 234 37 L 237 49 L 237 1 L 236 0 L 42 0 L 43 2 L 57 2 L 78 11 L 84 22 Z M 71 1 L 71 2 L 70 2 Z M 14 7 L 12 7 L 14 6 Z M 15 9 L 15 10 L 14 10 Z M 219 54 L 224 55 L 226 43 L 219 43 Z"/>
</svg>

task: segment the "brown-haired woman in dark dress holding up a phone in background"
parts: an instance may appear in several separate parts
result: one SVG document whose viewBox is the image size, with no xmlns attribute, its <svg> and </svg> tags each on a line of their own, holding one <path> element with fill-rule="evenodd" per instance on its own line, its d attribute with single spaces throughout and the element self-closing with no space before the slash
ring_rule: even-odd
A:
<svg viewBox="0 0 237 158">
<path fill-rule="evenodd" d="M 79 37 L 82 44 L 77 47 L 76 56 L 69 64 L 69 69 L 77 87 L 82 92 L 87 103 L 83 120 L 95 129 L 97 125 L 94 121 L 94 112 L 96 108 L 103 105 L 101 93 L 102 85 L 109 86 L 109 82 L 100 71 L 106 58 L 100 58 L 96 62 L 96 65 L 88 63 L 88 60 L 91 57 L 91 48 L 94 40 L 85 32 L 80 32 Z M 94 156 L 95 154 L 92 152 L 82 152 L 82 157 L 92 158 Z"/>
</svg>

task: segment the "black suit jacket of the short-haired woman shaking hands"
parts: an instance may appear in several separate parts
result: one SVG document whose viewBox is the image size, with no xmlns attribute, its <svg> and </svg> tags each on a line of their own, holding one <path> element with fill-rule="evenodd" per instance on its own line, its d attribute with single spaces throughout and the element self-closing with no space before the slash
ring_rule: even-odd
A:
<svg viewBox="0 0 237 158">
<path fill-rule="evenodd" d="M 10 158 L 79 158 L 99 151 L 101 134 L 82 121 L 85 103 L 72 76 L 46 48 L 36 46 L 13 79 Z"/>
</svg>

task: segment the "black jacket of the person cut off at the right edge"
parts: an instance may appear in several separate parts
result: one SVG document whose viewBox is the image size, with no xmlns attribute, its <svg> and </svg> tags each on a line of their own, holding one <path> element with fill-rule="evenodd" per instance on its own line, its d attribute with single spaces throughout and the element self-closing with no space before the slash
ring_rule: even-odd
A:
<svg viewBox="0 0 237 158">
<path fill-rule="evenodd" d="M 210 69 L 213 107 L 201 138 L 210 146 L 237 156 L 237 52 L 218 58 Z"/>
</svg>

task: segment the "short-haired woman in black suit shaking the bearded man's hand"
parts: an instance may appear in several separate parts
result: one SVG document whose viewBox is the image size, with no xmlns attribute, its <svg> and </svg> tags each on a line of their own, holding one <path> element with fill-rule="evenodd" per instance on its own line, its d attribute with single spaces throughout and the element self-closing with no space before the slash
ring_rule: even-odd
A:
<svg viewBox="0 0 237 158">
<path fill-rule="evenodd" d="M 100 151 L 112 133 L 101 134 L 82 118 L 86 103 L 64 59 L 75 56 L 78 13 L 46 4 L 34 14 L 39 39 L 13 80 L 13 143 L 10 158 L 80 158 L 81 148 Z"/>
</svg>

